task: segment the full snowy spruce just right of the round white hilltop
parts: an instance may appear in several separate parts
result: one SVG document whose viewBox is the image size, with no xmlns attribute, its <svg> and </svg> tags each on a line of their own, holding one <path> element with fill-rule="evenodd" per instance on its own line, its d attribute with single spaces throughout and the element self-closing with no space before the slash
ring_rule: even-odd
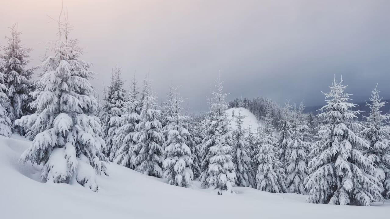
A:
<svg viewBox="0 0 390 219">
<path fill-rule="evenodd" d="M 272 124 L 271 109 L 266 106 L 264 125 L 261 134 L 258 134 L 257 155 L 254 157 L 254 162 L 257 164 L 255 185 L 257 189 L 262 191 L 285 193 L 287 191 L 286 176 L 283 164 L 277 156 L 279 141 L 274 136 L 276 130 Z"/>
</svg>

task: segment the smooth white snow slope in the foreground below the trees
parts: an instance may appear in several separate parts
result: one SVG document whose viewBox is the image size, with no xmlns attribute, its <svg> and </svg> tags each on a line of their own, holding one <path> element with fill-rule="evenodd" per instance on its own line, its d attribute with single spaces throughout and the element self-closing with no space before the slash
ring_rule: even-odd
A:
<svg viewBox="0 0 390 219">
<path fill-rule="evenodd" d="M 190 189 L 176 187 L 112 163 L 109 177 L 97 177 L 98 193 L 78 184 L 43 183 L 40 167 L 18 163 L 30 144 L 20 136 L 0 136 L 0 218 L 390 218 L 389 202 L 371 207 L 309 204 L 303 195 L 244 187 L 221 196 L 200 189 L 198 182 Z"/>
</svg>

